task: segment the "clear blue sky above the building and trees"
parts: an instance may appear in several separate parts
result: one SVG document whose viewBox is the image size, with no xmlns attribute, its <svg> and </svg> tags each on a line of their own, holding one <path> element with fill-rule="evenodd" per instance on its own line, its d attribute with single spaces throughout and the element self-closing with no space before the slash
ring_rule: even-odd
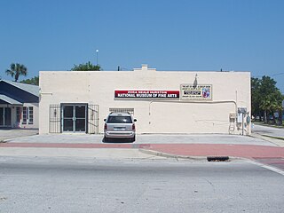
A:
<svg viewBox="0 0 284 213">
<path fill-rule="evenodd" d="M 88 61 L 147 64 L 250 71 L 284 93 L 283 11 L 282 0 L 0 0 L 0 76 L 12 80 L 12 63 L 28 67 L 20 80 Z"/>
</svg>

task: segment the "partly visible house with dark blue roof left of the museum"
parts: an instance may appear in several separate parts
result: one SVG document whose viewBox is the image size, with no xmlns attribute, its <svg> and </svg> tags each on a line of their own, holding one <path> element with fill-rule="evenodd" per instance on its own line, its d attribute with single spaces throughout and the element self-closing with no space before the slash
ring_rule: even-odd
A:
<svg viewBox="0 0 284 213">
<path fill-rule="evenodd" d="M 39 87 L 0 80 L 0 128 L 38 129 Z"/>
</svg>

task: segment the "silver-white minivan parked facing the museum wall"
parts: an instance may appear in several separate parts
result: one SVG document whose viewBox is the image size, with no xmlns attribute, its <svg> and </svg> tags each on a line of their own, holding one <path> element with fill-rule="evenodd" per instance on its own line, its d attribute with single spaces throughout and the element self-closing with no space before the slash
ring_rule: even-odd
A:
<svg viewBox="0 0 284 213">
<path fill-rule="evenodd" d="M 110 113 L 105 121 L 105 138 L 128 138 L 131 142 L 135 141 L 135 122 L 130 113 Z"/>
</svg>

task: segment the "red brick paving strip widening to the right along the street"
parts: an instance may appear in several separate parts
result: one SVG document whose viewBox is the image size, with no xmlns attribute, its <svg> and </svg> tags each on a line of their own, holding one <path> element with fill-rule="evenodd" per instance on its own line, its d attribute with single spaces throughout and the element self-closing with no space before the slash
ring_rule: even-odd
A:
<svg viewBox="0 0 284 213">
<path fill-rule="evenodd" d="M 66 143 L 0 143 L 1 147 L 38 148 L 144 148 L 184 156 L 233 156 L 243 158 L 284 158 L 284 147 L 220 144 L 66 144 Z"/>
</svg>

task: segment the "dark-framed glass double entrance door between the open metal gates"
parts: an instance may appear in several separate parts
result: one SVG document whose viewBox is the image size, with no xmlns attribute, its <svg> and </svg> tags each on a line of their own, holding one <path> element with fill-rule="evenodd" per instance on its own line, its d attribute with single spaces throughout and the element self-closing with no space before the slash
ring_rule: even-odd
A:
<svg viewBox="0 0 284 213">
<path fill-rule="evenodd" d="M 86 132 L 86 105 L 62 106 L 62 130 L 71 132 Z"/>
</svg>

